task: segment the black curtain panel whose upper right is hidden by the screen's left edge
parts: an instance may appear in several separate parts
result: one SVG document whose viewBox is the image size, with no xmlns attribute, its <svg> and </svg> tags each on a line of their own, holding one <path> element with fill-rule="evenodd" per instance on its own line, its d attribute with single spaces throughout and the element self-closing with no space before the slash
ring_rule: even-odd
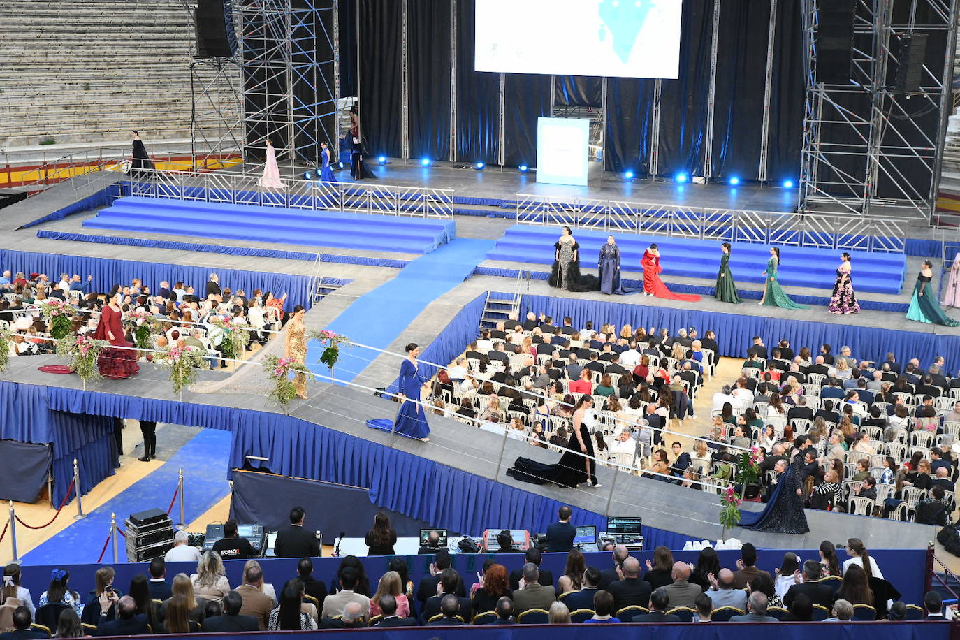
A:
<svg viewBox="0 0 960 640">
<path fill-rule="evenodd" d="M 473 70 L 475 6 L 476 0 L 457 2 L 456 158 L 494 164 L 498 155 L 500 74 Z"/>
</svg>

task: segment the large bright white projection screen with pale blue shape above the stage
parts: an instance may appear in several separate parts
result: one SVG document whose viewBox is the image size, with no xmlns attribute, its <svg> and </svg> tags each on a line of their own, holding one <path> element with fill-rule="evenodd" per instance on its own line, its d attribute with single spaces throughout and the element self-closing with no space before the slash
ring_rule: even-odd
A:
<svg viewBox="0 0 960 640">
<path fill-rule="evenodd" d="M 476 0 L 476 71 L 677 78 L 683 0 Z"/>
</svg>

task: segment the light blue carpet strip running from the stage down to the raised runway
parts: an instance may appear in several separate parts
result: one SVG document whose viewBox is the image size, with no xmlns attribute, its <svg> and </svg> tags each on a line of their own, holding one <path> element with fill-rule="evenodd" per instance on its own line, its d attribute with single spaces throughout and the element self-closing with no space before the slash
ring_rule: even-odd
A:
<svg viewBox="0 0 960 640">
<path fill-rule="evenodd" d="M 417 258 L 393 280 L 357 298 L 325 328 L 346 335 L 354 342 L 385 349 L 430 302 L 466 280 L 492 248 L 492 240 L 457 238 Z M 425 346 L 420 344 L 421 349 Z M 322 352 L 323 347 L 311 341 L 307 345 L 306 364 L 318 374 L 329 375 L 327 367 L 317 364 Z M 336 377 L 353 381 L 377 355 L 360 347 L 342 349 L 340 363 L 335 367 Z M 399 362 L 396 367 L 399 369 Z M 368 378 L 356 382 L 368 387 L 383 386 L 383 381 L 374 385 Z"/>
</svg>

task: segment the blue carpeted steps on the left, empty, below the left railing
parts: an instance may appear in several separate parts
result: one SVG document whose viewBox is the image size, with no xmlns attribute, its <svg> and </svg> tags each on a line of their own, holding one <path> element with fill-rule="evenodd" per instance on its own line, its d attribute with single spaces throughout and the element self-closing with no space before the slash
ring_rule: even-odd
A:
<svg viewBox="0 0 960 640">
<path fill-rule="evenodd" d="M 455 237 L 452 220 L 132 196 L 84 226 L 310 247 L 428 253 Z"/>
</svg>

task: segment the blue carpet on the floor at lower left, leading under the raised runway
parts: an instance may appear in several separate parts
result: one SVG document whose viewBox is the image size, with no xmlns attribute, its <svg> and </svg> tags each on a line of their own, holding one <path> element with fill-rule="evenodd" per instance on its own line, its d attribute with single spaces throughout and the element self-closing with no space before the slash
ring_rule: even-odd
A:
<svg viewBox="0 0 960 640">
<path fill-rule="evenodd" d="M 23 557 L 24 563 L 56 564 L 67 560 L 74 563 L 96 562 L 110 530 L 110 513 L 116 513 L 117 523 L 123 529 L 123 522 L 131 513 L 154 508 L 166 510 L 177 490 L 180 469 L 183 469 L 186 486 L 186 502 L 183 506 L 186 522 L 189 524 L 199 518 L 229 493 L 227 461 L 230 438 L 228 431 L 201 430 L 156 471 L 27 553 Z M 178 504 L 170 511 L 175 524 L 180 518 L 179 501 L 178 498 Z M 76 508 L 71 505 L 60 513 L 60 518 L 72 518 L 74 513 Z M 118 549 L 121 562 L 127 561 L 125 545 L 126 541 L 120 536 Z M 110 545 L 104 561 L 112 562 L 112 554 Z"/>
</svg>

